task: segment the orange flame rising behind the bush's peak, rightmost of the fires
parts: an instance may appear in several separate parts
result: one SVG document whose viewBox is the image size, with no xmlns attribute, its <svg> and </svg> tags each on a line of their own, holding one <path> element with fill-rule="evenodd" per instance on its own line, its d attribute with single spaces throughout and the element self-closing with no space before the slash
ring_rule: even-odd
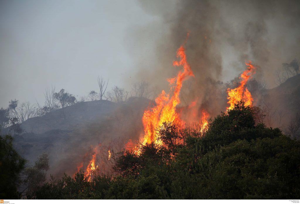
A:
<svg viewBox="0 0 300 204">
<path fill-rule="evenodd" d="M 241 74 L 241 77 L 239 77 L 241 80 L 240 85 L 235 89 L 227 89 L 229 100 L 227 103 L 230 105 L 227 107 L 227 110 L 231 110 L 234 107 L 234 104 L 236 104 L 238 101 L 245 101 L 245 106 L 252 105 L 253 98 L 251 96 L 250 91 L 247 89 L 246 84 L 248 80 L 252 77 L 252 75 L 255 73 L 255 67 L 251 64 L 251 61 L 249 63 L 245 63 L 248 67 L 247 69 Z"/>
</svg>

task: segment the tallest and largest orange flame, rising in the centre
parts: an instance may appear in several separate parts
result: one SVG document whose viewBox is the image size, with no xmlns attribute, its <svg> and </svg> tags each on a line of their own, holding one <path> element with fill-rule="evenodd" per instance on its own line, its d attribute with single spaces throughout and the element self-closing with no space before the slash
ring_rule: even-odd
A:
<svg viewBox="0 0 300 204">
<path fill-rule="evenodd" d="M 177 50 L 179 61 L 174 61 L 173 66 L 182 66 L 176 77 L 168 79 L 170 92 L 166 94 L 163 90 L 155 99 L 156 106 L 146 110 L 143 115 L 144 138 L 142 144 L 151 143 L 162 145 L 162 141 L 156 136 L 156 128 L 161 126 L 163 122 L 176 122 L 182 124 L 179 114 L 176 112 L 176 106 L 180 103 L 179 93 L 182 88 L 182 82 L 189 76 L 194 76 L 190 65 L 187 63 L 184 45 Z"/>
</svg>

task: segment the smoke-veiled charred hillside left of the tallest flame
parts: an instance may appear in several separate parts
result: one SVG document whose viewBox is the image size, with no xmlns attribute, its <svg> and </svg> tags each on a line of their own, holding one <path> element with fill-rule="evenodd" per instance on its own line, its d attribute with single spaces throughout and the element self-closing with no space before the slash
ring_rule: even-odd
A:
<svg viewBox="0 0 300 204">
<path fill-rule="evenodd" d="M 91 145 L 119 137 L 126 140 L 142 131 L 141 118 L 150 104 L 148 99 L 132 97 L 121 104 L 88 101 L 67 106 L 64 111 L 58 109 L 23 122 L 25 131 L 15 136 L 14 146 L 30 163 L 46 151 L 50 173 L 72 174 Z"/>
</svg>

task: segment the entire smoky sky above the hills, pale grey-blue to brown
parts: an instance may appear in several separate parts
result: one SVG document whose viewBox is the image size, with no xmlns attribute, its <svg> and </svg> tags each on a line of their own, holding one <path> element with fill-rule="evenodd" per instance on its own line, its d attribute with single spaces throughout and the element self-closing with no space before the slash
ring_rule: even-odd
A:
<svg viewBox="0 0 300 204">
<path fill-rule="evenodd" d="M 204 97 L 207 78 L 229 81 L 251 60 L 275 86 L 282 63 L 299 60 L 299 1 L 1 1 L 0 107 L 43 101 L 56 89 L 97 91 L 97 75 L 130 89 L 167 89 L 185 46 L 195 77 L 183 92 Z M 192 88 L 191 88 L 192 87 Z"/>
</svg>

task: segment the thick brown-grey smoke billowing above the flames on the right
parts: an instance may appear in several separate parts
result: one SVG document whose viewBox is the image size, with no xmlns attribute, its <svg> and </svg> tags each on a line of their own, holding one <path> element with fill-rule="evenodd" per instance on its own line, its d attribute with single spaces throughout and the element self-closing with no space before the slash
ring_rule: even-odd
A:
<svg viewBox="0 0 300 204">
<path fill-rule="evenodd" d="M 187 33 L 186 53 L 195 78 L 185 82 L 182 96 L 191 100 L 207 101 L 215 95 L 214 89 L 207 89 L 216 87 L 209 81 L 232 80 L 248 60 L 257 67 L 256 80 L 265 80 L 272 88 L 277 68 L 299 57 L 299 1 L 140 1 L 140 5 L 154 21 L 130 32 L 136 41 L 131 53 L 139 59 L 138 78 L 151 81 L 158 91 L 168 89 L 166 78 L 178 71 L 172 61 Z M 149 41 L 156 45 L 154 54 L 143 43 Z"/>
</svg>

